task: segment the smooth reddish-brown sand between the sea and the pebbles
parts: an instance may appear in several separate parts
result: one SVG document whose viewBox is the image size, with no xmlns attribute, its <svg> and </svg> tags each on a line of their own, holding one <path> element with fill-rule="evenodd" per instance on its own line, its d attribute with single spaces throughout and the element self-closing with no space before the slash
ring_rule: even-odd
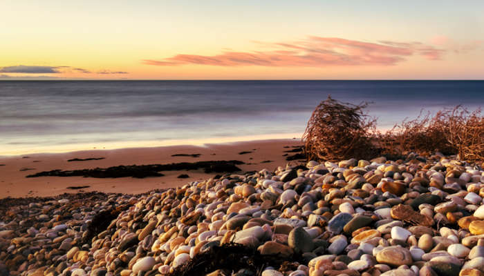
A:
<svg viewBox="0 0 484 276">
<path fill-rule="evenodd" d="M 196 162 L 211 160 L 240 160 L 246 164 L 238 165 L 243 172 L 277 166 L 286 166 L 284 152 L 300 146 L 299 139 L 270 139 L 243 141 L 225 144 L 205 144 L 204 146 L 164 146 L 157 148 L 123 148 L 118 150 L 86 150 L 55 154 L 32 154 L 0 157 L 0 198 L 4 197 L 46 197 L 63 193 L 100 191 L 104 193 L 146 193 L 153 189 L 182 186 L 191 181 L 208 179 L 216 173 L 207 174 L 203 170 L 163 171 L 163 177 L 132 177 L 97 179 L 91 177 L 33 177 L 37 172 L 46 170 L 78 170 L 84 168 L 107 168 L 120 165 L 169 164 L 178 162 Z M 239 155 L 239 152 L 249 152 Z M 200 157 L 172 157 L 176 154 L 200 154 Z M 101 158 L 89 161 L 67 161 L 68 159 Z M 261 163 L 263 161 L 270 161 Z M 297 161 L 292 161 L 292 164 Z M 181 174 L 189 178 L 179 179 Z M 68 187 L 89 186 L 82 189 Z"/>
</svg>

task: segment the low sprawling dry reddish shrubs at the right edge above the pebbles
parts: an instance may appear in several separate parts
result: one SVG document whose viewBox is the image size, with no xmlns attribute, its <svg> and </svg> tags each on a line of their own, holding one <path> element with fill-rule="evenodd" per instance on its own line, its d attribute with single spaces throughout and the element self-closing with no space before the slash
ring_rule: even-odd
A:
<svg viewBox="0 0 484 276">
<path fill-rule="evenodd" d="M 377 137 L 383 154 L 438 150 L 445 155 L 458 154 L 460 159 L 469 161 L 484 159 L 484 117 L 481 109 L 469 112 L 462 106 L 456 106 L 440 110 L 434 117 L 420 112 L 416 119 L 405 119 Z"/>
</svg>

